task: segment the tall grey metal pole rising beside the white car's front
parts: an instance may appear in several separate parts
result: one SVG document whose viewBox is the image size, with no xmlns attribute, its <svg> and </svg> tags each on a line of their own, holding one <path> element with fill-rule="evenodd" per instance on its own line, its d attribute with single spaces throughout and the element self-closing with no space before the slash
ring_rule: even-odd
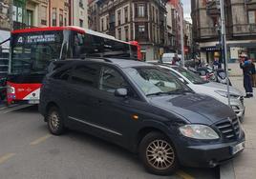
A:
<svg viewBox="0 0 256 179">
<path fill-rule="evenodd" d="M 222 47 L 224 48 L 224 64 L 226 73 L 226 89 L 228 106 L 230 107 L 230 90 L 229 90 L 229 75 L 228 75 L 228 64 L 227 64 L 227 47 L 226 47 L 226 30 L 225 30 L 225 16 L 224 16 L 224 0 L 220 0 L 221 5 L 221 22 L 222 22 Z"/>
</svg>

